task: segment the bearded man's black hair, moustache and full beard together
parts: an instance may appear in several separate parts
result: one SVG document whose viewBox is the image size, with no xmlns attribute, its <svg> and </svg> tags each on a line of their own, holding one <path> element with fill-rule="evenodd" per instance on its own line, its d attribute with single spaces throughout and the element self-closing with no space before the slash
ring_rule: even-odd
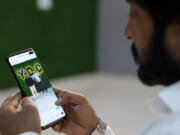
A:
<svg viewBox="0 0 180 135">
<path fill-rule="evenodd" d="M 146 64 L 140 63 L 135 45 L 132 52 L 139 63 L 138 76 L 148 85 L 169 85 L 180 79 L 178 63 L 165 48 L 165 29 L 171 24 L 180 24 L 180 0 L 127 0 L 147 10 L 155 23 L 153 37 L 150 40 L 151 58 Z"/>
</svg>

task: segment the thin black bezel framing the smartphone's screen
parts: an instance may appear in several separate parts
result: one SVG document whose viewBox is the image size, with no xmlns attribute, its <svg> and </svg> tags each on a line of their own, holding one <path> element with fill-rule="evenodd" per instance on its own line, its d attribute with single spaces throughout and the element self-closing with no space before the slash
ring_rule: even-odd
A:
<svg viewBox="0 0 180 135">
<path fill-rule="evenodd" d="M 11 64 L 10 64 L 10 62 L 9 62 L 9 58 L 10 58 L 10 57 L 13 57 L 13 56 L 16 56 L 16 55 L 19 55 L 19 54 L 21 54 L 21 53 L 29 52 L 29 51 L 35 52 L 33 48 L 28 48 L 28 49 L 25 49 L 25 50 L 21 50 L 21 51 L 12 53 L 12 54 L 6 56 L 6 58 L 5 58 L 5 60 L 6 60 L 7 64 L 8 64 L 8 66 L 9 66 L 9 68 L 10 68 L 10 71 L 11 71 L 11 73 L 13 74 L 13 77 L 15 78 L 16 83 L 17 83 L 17 85 L 18 85 L 18 87 L 19 87 L 19 89 L 20 89 L 20 91 L 21 91 L 23 97 L 25 97 L 25 94 L 24 94 L 24 92 L 23 92 L 23 88 L 21 87 L 20 82 L 18 81 L 18 78 L 16 77 L 15 72 L 13 71 L 13 68 L 12 68 L 12 66 L 11 66 Z M 38 58 L 38 57 L 37 57 L 37 58 Z M 47 128 L 53 126 L 54 124 L 56 124 L 56 123 L 62 121 L 63 119 L 65 119 L 65 117 L 66 117 L 66 115 L 65 115 L 64 117 L 60 118 L 60 119 L 57 119 L 57 120 L 55 120 L 55 121 L 53 121 L 53 122 L 47 124 L 46 126 L 41 126 L 42 130 L 45 130 L 45 129 L 47 129 Z"/>
</svg>

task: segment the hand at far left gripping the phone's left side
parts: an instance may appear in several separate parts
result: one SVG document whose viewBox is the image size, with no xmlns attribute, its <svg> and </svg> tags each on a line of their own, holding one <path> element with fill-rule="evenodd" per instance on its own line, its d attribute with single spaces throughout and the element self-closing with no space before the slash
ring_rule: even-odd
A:
<svg viewBox="0 0 180 135">
<path fill-rule="evenodd" d="M 20 102 L 22 110 L 17 111 Z M 0 135 L 26 135 L 25 132 L 40 134 L 40 119 L 33 101 L 18 93 L 8 97 L 0 107 Z"/>
</svg>

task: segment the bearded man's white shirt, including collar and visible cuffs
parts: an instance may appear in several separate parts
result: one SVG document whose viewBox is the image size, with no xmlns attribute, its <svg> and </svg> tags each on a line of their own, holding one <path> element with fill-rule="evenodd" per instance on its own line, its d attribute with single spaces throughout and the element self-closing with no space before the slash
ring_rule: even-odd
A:
<svg viewBox="0 0 180 135">
<path fill-rule="evenodd" d="M 149 101 L 149 104 L 153 110 L 161 114 L 161 117 L 145 127 L 139 135 L 180 135 L 180 82 L 158 93 Z M 92 133 L 92 135 L 100 134 Z M 107 126 L 104 135 L 115 135 L 115 133 L 110 126 Z"/>
</svg>

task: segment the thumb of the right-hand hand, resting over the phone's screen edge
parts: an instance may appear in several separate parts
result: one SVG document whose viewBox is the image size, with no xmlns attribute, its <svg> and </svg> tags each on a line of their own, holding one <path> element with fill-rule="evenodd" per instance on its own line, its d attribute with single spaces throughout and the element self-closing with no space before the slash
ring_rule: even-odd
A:
<svg viewBox="0 0 180 135">
<path fill-rule="evenodd" d="M 86 101 L 85 97 L 80 93 L 75 93 L 72 91 L 62 91 L 58 94 L 58 100 L 56 101 L 56 105 L 66 105 L 73 104 L 79 105 Z"/>
</svg>

